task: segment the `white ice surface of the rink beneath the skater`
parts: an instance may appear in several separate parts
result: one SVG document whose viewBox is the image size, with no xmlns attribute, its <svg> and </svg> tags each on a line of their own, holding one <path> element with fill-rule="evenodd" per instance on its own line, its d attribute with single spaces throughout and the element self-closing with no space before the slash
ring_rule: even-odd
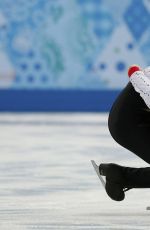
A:
<svg viewBox="0 0 150 230">
<path fill-rule="evenodd" d="M 150 229 L 150 190 L 112 201 L 90 163 L 147 166 L 115 143 L 107 116 L 0 115 L 0 230 Z"/>
</svg>

